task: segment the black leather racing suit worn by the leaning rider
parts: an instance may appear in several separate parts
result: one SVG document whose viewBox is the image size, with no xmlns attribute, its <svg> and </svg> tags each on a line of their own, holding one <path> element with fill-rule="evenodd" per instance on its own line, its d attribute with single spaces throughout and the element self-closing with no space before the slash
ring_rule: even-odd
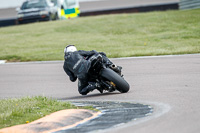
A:
<svg viewBox="0 0 200 133">
<path fill-rule="evenodd" d="M 64 56 L 65 62 L 63 68 L 72 82 L 75 82 L 78 78 L 78 91 L 82 95 L 86 95 L 89 91 L 95 89 L 94 85 L 88 83 L 88 70 L 90 68 L 91 62 L 86 59 L 97 53 L 98 52 L 95 50 L 79 50 L 75 52 L 68 52 Z M 106 57 L 105 53 L 100 52 L 100 54 Z"/>
</svg>

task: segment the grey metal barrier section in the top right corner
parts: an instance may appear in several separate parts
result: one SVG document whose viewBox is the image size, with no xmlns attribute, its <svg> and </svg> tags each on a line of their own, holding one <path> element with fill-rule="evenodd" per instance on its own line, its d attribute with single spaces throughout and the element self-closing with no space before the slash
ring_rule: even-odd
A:
<svg viewBox="0 0 200 133">
<path fill-rule="evenodd" d="M 200 0 L 180 0 L 179 9 L 196 9 L 200 8 Z"/>
</svg>

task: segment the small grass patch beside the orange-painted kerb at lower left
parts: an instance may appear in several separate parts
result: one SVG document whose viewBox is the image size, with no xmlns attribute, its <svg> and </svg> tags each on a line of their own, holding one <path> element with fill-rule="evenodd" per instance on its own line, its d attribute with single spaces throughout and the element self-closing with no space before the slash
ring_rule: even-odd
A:
<svg viewBox="0 0 200 133">
<path fill-rule="evenodd" d="M 0 129 L 25 124 L 62 109 L 78 109 L 69 102 L 37 96 L 0 100 Z M 92 107 L 82 107 L 92 109 Z"/>
</svg>

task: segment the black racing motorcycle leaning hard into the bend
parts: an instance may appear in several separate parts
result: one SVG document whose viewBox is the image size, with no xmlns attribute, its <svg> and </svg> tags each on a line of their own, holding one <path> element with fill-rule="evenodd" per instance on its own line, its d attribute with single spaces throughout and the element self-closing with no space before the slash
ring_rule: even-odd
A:
<svg viewBox="0 0 200 133">
<path fill-rule="evenodd" d="M 115 65 L 106 65 L 101 54 L 95 54 L 89 60 L 91 62 L 88 71 L 90 82 L 98 82 L 100 88 L 108 92 L 118 90 L 121 93 L 126 93 L 129 91 L 129 84 L 124 80 L 121 71 L 116 71 Z"/>
</svg>

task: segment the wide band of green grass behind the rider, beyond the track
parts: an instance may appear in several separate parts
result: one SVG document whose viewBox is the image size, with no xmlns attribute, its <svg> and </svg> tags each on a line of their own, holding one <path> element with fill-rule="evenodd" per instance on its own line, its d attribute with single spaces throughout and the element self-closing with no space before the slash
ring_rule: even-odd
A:
<svg viewBox="0 0 200 133">
<path fill-rule="evenodd" d="M 200 53 L 200 9 L 80 17 L 0 28 L 0 59 L 63 60 L 63 49 L 108 57 Z"/>
</svg>

